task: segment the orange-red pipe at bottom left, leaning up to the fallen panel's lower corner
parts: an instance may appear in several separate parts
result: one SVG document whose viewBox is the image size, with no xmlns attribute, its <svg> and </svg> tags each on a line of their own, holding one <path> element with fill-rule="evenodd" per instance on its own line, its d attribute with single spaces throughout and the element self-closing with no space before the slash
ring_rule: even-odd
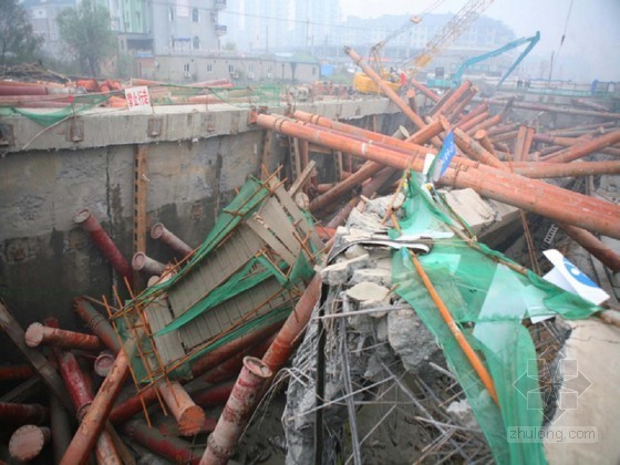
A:
<svg viewBox="0 0 620 465">
<path fill-rule="evenodd" d="M 128 349 L 127 349 L 128 350 Z M 130 353 L 134 348 L 132 347 Z M 83 465 L 86 463 L 89 453 L 93 448 L 97 437 L 103 431 L 104 423 L 110 415 L 114 400 L 118 395 L 122 385 L 130 373 L 130 360 L 126 350 L 116 355 L 114 365 L 103 381 L 93 403 L 84 415 L 78 432 L 62 457 L 61 465 Z"/>
</svg>

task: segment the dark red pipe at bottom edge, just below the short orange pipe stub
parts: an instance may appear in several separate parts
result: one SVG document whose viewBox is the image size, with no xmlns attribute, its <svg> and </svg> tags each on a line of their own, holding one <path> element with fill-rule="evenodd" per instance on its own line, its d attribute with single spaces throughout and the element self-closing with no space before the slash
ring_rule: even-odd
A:
<svg viewBox="0 0 620 465">
<path fill-rule="evenodd" d="M 195 450 L 190 443 L 176 436 L 164 436 L 159 430 L 148 427 L 142 420 L 127 422 L 123 430 L 136 443 L 177 464 L 196 465 L 200 462 L 202 450 Z"/>
</svg>

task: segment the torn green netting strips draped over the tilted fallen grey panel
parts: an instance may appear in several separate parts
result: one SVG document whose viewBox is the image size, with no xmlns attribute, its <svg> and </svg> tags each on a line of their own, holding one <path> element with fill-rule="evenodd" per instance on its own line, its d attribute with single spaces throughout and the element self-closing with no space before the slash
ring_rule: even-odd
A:
<svg viewBox="0 0 620 465">
<path fill-rule="evenodd" d="M 209 259 L 209 252 L 211 252 L 217 246 L 219 246 L 224 240 L 228 239 L 234 229 L 239 226 L 245 218 L 257 211 L 262 203 L 269 197 L 269 190 L 264 186 L 264 184 L 254 177 L 250 177 L 246 184 L 241 187 L 239 194 L 232 199 L 232 202 L 224 208 L 220 213 L 214 228 L 208 234 L 204 242 L 193 255 L 192 259 L 179 270 L 178 273 L 174 275 L 169 280 L 152 286 L 142 292 L 134 300 L 127 302 L 125 310 L 131 312 L 133 309 L 140 309 L 148 306 L 154 299 L 161 297 L 164 292 L 169 291 L 174 286 L 177 286 L 184 279 L 187 279 L 192 271 L 204 260 Z M 312 225 L 312 220 L 307 216 L 307 220 Z M 291 219 L 292 221 L 292 219 Z M 310 244 L 308 244 L 311 246 Z M 312 250 L 313 252 L 316 250 Z M 214 309 L 218 304 L 234 298 L 235 296 L 248 291 L 255 286 L 275 277 L 282 289 L 292 289 L 294 286 L 308 280 L 314 273 L 312 264 L 306 257 L 304 254 L 300 254 L 292 266 L 289 266 L 286 261 L 280 260 L 278 264 L 273 264 L 268 260 L 262 255 L 258 255 L 250 259 L 245 266 L 232 273 L 225 282 L 223 282 L 217 288 L 213 289 L 204 299 L 196 302 L 192 308 L 187 309 L 183 314 L 174 319 L 168 326 L 159 330 L 157 333 L 153 334 L 155 340 L 157 337 L 164 335 L 170 331 L 176 331 L 183 326 L 189 323 L 195 318 L 204 314 L 205 312 Z M 269 311 L 262 316 L 252 316 L 248 320 L 244 321 L 237 328 L 226 333 L 224 337 L 219 337 L 216 340 L 209 342 L 205 341 L 206 344 L 199 350 L 192 353 L 192 355 L 184 362 L 184 364 L 175 370 L 173 376 L 185 376 L 189 373 L 188 362 L 200 356 L 217 347 L 237 339 L 246 333 L 257 331 L 266 326 L 272 324 L 288 316 L 291 310 L 290 302 L 280 306 L 279 308 Z M 124 318 L 115 317 L 117 330 L 121 337 L 126 340 L 131 338 L 131 333 L 126 328 L 126 321 Z M 145 341 L 147 342 L 147 341 Z M 140 354 L 136 354 L 132 360 L 132 368 L 136 373 L 138 380 L 146 380 L 146 370 Z"/>
</svg>

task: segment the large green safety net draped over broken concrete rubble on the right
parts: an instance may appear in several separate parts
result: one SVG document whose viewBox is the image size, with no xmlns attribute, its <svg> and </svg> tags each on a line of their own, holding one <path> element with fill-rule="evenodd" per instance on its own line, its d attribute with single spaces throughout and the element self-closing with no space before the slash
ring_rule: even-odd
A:
<svg viewBox="0 0 620 465">
<path fill-rule="evenodd" d="M 499 407 L 484 388 L 456 339 L 441 317 L 417 275 L 410 251 L 393 254 L 393 281 L 443 348 L 472 410 L 500 464 L 541 464 L 541 442 L 513 442 L 508 428 L 542 426 L 537 355 L 528 330 L 530 317 L 560 314 L 587 318 L 601 308 L 566 292 L 533 272 L 524 276 L 505 264 L 510 260 L 482 244 L 480 250 L 458 239 L 441 196 L 420 187 L 412 175 L 405 185 L 402 234 L 433 238 L 420 262 L 472 348 L 492 375 Z M 393 237 L 400 232 L 391 231 Z"/>
</svg>

